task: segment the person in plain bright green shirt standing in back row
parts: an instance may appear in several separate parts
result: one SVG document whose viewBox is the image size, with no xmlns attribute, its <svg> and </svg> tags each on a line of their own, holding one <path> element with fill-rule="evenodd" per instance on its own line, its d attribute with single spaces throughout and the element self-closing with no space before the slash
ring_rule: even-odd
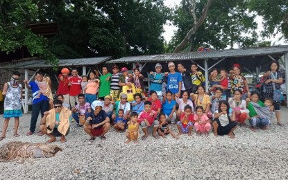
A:
<svg viewBox="0 0 288 180">
<path fill-rule="evenodd" d="M 104 100 L 106 95 L 110 94 L 111 73 L 108 73 L 107 66 L 102 67 L 102 75 L 100 76 L 99 99 Z"/>
</svg>

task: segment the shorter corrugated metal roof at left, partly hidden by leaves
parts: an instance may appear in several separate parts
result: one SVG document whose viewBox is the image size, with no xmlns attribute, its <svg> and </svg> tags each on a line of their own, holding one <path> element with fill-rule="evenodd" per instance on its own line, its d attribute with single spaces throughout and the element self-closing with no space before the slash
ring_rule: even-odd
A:
<svg viewBox="0 0 288 180">
<path fill-rule="evenodd" d="M 100 64 L 107 60 L 111 60 L 112 57 L 90 57 L 81 59 L 65 59 L 59 60 L 58 67 L 73 67 L 73 66 L 89 66 Z M 0 69 L 37 69 L 37 68 L 49 68 L 50 64 L 46 64 L 44 60 L 33 60 L 26 62 L 19 62 L 18 64 L 12 64 L 10 66 L 0 66 Z"/>
</svg>

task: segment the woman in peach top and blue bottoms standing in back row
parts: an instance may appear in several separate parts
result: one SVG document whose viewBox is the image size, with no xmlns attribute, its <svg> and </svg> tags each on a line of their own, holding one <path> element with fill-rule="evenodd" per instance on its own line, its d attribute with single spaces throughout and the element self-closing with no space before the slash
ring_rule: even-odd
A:
<svg viewBox="0 0 288 180">
<path fill-rule="evenodd" d="M 92 102 L 94 100 L 97 99 L 96 93 L 97 93 L 97 89 L 99 87 L 99 80 L 96 79 L 96 73 L 95 71 L 91 71 L 89 73 L 89 80 L 88 80 L 88 84 L 86 85 L 85 88 L 85 100 L 86 102 L 89 102 L 90 105 L 92 104 Z"/>
</svg>

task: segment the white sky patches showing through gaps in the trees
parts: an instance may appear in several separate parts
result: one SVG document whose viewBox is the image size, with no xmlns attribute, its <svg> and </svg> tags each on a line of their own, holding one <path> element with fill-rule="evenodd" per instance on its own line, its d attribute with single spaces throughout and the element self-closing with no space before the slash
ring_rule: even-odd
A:
<svg viewBox="0 0 288 180">
<path fill-rule="evenodd" d="M 179 5 L 180 2 L 181 2 L 181 0 L 165 0 L 164 4 L 165 4 L 165 6 L 168 6 L 169 8 L 173 8 L 176 5 Z M 255 21 L 257 21 L 257 24 L 258 24 L 257 32 L 259 33 L 263 29 L 262 18 L 261 17 L 257 17 L 255 19 Z M 169 24 L 172 24 L 171 21 L 167 21 L 167 24 L 164 25 L 165 32 L 162 34 L 164 39 L 167 41 L 167 43 L 169 43 L 169 41 L 171 40 L 171 38 L 173 36 L 173 32 L 177 30 L 176 26 L 173 26 L 173 25 L 169 26 Z M 281 34 L 277 34 L 276 37 L 271 37 L 271 38 L 265 39 L 265 40 L 271 40 L 272 44 L 274 42 L 276 42 L 275 45 L 287 44 L 287 43 L 284 42 L 284 40 L 278 41 L 278 38 L 280 36 L 281 36 Z M 262 38 L 260 38 L 260 39 L 263 40 Z M 236 46 L 235 46 L 235 48 L 236 48 Z"/>
</svg>

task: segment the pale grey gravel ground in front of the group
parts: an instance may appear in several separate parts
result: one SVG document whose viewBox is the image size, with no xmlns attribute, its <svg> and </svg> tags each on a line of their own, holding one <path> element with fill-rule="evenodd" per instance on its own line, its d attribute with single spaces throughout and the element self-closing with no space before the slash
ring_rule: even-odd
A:
<svg viewBox="0 0 288 180">
<path fill-rule="evenodd" d="M 128 145 L 124 133 L 113 129 L 106 141 L 96 138 L 88 145 L 89 136 L 72 123 L 67 143 L 55 143 L 62 152 L 53 158 L 0 163 L 0 179 L 288 179 L 287 115 L 283 107 L 286 127 L 276 125 L 274 118 L 266 131 L 238 127 L 235 139 L 184 134 L 178 140 L 168 136 L 157 141 L 149 136 Z M 46 142 L 46 136 L 25 135 L 30 118 L 31 114 L 24 114 L 20 119 L 17 138 L 12 136 L 10 120 L 0 146 L 9 141 Z M 173 129 L 178 132 L 176 126 Z"/>
</svg>

